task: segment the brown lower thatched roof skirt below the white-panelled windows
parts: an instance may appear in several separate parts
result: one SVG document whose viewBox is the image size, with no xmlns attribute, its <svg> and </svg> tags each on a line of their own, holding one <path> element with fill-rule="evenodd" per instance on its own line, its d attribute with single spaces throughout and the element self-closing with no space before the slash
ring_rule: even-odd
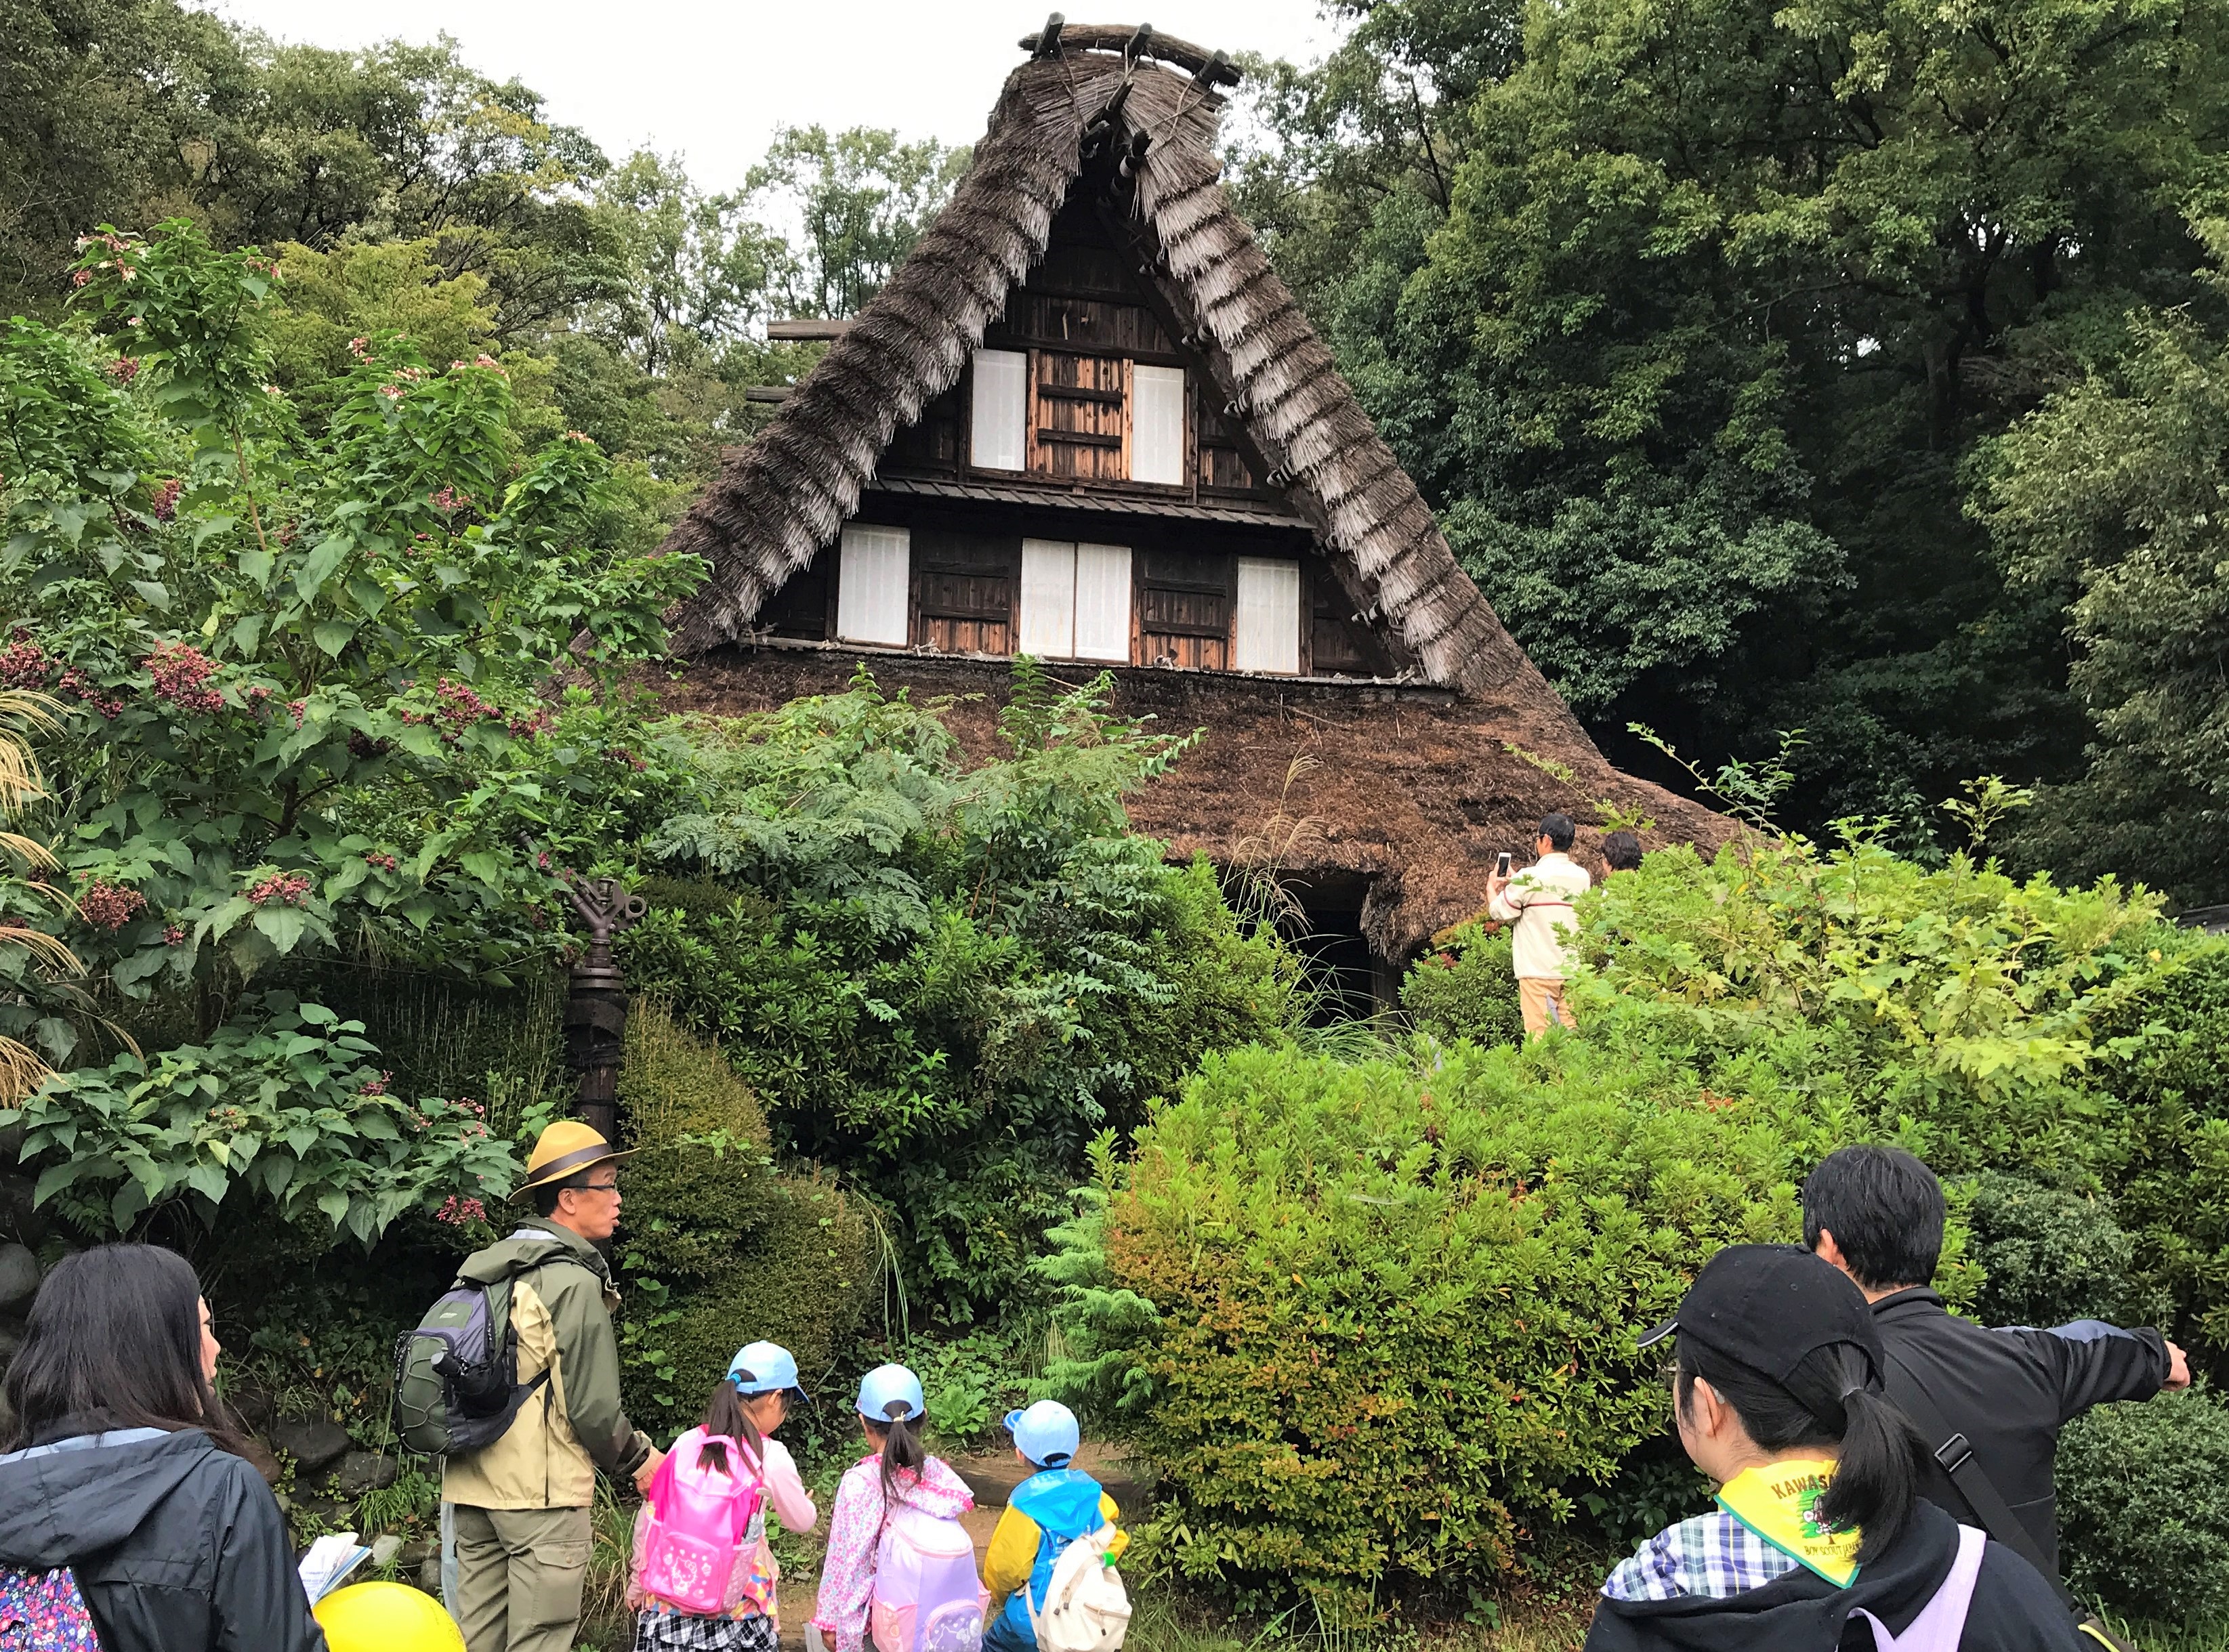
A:
<svg viewBox="0 0 2229 1652">
<path fill-rule="evenodd" d="M 671 711 L 742 716 L 811 693 L 843 693 L 858 664 L 843 649 L 718 649 L 660 684 Z M 976 762 L 1005 754 L 999 707 L 1012 689 L 1003 660 L 883 655 L 885 691 L 927 702 L 954 696 L 945 725 Z M 1081 680 L 1086 673 L 1065 673 Z M 1493 856 L 1531 861 L 1540 816 L 1596 820 L 1614 800 L 1654 820 L 1643 843 L 1694 843 L 1705 854 L 1739 827 L 1698 803 L 1636 780 L 1587 745 L 1560 740 L 1560 702 L 1493 689 L 1277 682 L 1210 671 L 1114 669 L 1123 716 L 1170 733 L 1206 729 L 1199 749 L 1130 796 L 1139 832 L 1181 856 L 1257 869 L 1302 892 L 1344 887 L 1362 898 L 1378 956 L 1413 954 L 1433 932 L 1487 903 Z M 1549 758 L 1549 769 L 1511 751 Z M 1603 874 L 1600 832 L 1580 827 L 1576 856 Z M 1331 905 L 1337 905 L 1333 901 Z"/>
</svg>

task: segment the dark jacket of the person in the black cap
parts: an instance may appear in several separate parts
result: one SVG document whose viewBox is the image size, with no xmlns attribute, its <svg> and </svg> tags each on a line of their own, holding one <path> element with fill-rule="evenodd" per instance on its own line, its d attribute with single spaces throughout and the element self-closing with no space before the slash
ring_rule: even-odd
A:
<svg viewBox="0 0 2229 1652">
<path fill-rule="evenodd" d="M 1587 1652 L 1872 1652 L 1863 1619 L 1843 1641 L 1850 1612 L 1866 1607 L 1890 1634 L 1904 1634 L 1935 1598 L 1957 1561 L 1957 1520 L 1930 1503 L 1888 1552 L 1866 1561 L 1848 1590 L 1797 1567 L 1761 1590 L 1723 1601 L 1596 1601 Z M 1999 1543 L 1982 1554 L 1959 1652 L 2082 1652 L 2075 1621 L 2035 1567 Z"/>
</svg>

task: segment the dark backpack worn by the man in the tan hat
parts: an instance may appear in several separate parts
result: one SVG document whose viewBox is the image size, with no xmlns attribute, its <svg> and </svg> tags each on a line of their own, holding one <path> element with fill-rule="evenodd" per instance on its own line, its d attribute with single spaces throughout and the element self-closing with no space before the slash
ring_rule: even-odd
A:
<svg viewBox="0 0 2229 1652">
<path fill-rule="evenodd" d="M 510 1324 L 510 1282 L 555 1255 L 519 1262 L 502 1280 L 459 1277 L 395 1342 L 395 1431 L 410 1451 L 464 1456 L 495 1445 L 548 1371 L 519 1382 L 519 1333 Z M 582 1266 L 573 1260 L 575 1266 Z"/>
</svg>

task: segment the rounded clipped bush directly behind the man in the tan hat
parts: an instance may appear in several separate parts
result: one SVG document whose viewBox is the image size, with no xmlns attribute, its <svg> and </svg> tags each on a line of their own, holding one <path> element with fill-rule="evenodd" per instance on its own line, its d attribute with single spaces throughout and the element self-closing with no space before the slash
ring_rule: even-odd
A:
<svg viewBox="0 0 2229 1652">
<path fill-rule="evenodd" d="M 631 1416 L 695 1420 L 744 1342 L 780 1342 L 807 1384 L 825 1373 L 874 1293 L 878 1242 L 858 1199 L 776 1175 L 767 1117 L 718 1046 L 658 1003 L 626 1019 L 626 1166 L 620 1260 Z"/>
</svg>

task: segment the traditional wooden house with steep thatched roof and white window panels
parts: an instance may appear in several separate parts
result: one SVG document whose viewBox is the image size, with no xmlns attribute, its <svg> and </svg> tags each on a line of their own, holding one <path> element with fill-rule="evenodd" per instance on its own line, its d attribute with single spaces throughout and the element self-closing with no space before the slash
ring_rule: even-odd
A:
<svg viewBox="0 0 2229 1652">
<path fill-rule="evenodd" d="M 1023 47 L 952 205 L 673 531 L 713 569 L 673 698 L 762 709 L 860 658 L 936 693 L 996 693 L 1014 653 L 1108 667 L 1126 711 L 1208 729 L 1139 827 L 1226 863 L 1275 843 L 1380 968 L 1547 809 L 1719 843 L 1603 760 L 1233 212 L 1237 74 L 1135 29 Z"/>
</svg>

